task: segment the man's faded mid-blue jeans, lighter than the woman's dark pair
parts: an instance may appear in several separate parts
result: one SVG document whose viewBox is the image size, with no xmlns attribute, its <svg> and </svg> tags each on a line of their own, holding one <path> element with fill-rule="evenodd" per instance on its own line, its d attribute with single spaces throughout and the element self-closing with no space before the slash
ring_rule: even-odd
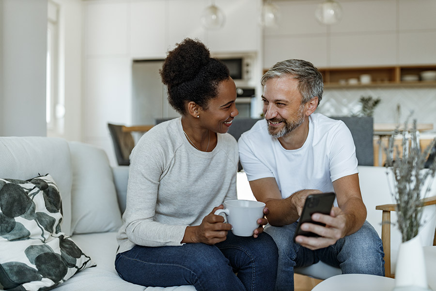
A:
<svg viewBox="0 0 436 291">
<path fill-rule="evenodd" d="M 279 247 L 279 270 L 276 291 L 294 290 L 294 268 L 323 261 L 341 268 L 342 274 L 385 275 L 383 244 L 374 227 L 367 221 L 355 233 L 326 248 L 312 251 L 295 243 L 297 223 L 288 226 L 266 226 Z"/>
</svg>

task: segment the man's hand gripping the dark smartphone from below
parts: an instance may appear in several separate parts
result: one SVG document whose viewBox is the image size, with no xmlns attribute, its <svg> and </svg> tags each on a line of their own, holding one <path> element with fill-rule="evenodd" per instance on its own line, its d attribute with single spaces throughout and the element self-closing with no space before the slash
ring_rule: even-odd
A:
<svg viewBox="0 0 436 291">
<path fill-rule="evenodd" d="M 296 242 L 311 250 L 327 247 L 336 243 L 346 235 L 346 215 L 338 207 L 332 208 L 330 215 L 313 213 L 312 220 L 324 223 L 320 226 L 312 223 L 304 223 L 301 229 L 318 234 L 320 237 L 306 237 L 299 235 L 295 238 Z"/>
</svg>

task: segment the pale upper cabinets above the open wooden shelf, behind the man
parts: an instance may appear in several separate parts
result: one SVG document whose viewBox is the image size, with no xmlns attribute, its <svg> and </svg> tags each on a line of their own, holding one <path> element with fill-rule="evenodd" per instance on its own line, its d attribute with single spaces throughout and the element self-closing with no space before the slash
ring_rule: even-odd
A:
<svg viewBox="0 0 436 291">
<path fill-rule="evenodd" d="M 319 2 L 274 1 L 282 17 L 264 31 L 264 68 L 291 58 L 324 68 L 436 64 L 435 0 L 339 0 L 343 19 L 329 26 L 315 19 Z"/>
</svg>

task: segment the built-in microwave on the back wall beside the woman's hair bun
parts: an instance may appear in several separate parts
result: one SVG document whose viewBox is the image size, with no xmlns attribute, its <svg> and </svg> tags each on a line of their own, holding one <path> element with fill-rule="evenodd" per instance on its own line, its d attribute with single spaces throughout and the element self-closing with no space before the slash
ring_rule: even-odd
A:
<svg viewBox="0 0 436 291">
<path fill-rule="evenodd" d="M 236 84 L 249 83 L 252 78 L 253 58 L 250 56 L 218 57 L 229 68 L 230 77 Z"/>
</svg>

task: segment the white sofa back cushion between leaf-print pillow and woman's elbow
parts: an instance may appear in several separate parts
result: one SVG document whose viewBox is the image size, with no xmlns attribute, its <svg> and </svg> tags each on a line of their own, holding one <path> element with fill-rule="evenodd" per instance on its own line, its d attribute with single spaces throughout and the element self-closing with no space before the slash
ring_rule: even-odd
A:
<svg viewBox="0 0 436 291">
<path fill-rule="evenodd" d="M 115 231 L 122 225 L 106 152 L 96 146 L 70 142 L 73 186 L 71 189 L 74 233 Z"/>
</svg>

